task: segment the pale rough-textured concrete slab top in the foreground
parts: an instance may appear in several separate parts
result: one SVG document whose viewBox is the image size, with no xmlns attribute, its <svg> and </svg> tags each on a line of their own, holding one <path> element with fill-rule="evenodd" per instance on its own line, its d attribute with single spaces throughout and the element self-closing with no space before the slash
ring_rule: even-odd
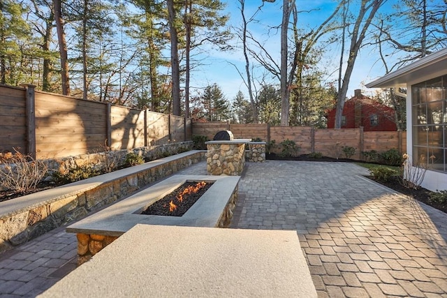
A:
<svg viewBox="0 0 447 298">
<path fill-rule="evenodd" d="M 317 297 L 295 231 L 136 225 L 39 297 Z"/>
</svg>

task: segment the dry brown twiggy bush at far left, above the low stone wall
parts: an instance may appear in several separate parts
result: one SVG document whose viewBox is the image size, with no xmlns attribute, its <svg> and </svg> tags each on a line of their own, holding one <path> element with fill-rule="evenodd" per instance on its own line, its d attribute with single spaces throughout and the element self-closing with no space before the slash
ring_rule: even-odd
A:
<svg viewBox="0 0 447 298">
<path fill-rule="evenodd" d="M 15 154 L 1 154 L 4 165 L 0 167 L 0 185 L 17 193 L 34 191 L 45 177 L 48 167 L 42 161 L 14 150 Z"/>
</svg>

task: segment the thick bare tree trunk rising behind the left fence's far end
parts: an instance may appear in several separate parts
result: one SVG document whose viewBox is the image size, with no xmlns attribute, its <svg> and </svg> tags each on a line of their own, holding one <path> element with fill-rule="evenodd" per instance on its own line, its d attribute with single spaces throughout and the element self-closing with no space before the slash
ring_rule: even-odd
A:
<svg viewBox="0 0 447 298">
<path fill-rule="evenodd" d="M 168 5 L 169 29 L 170 29 L 170 64 L 173 77 L 173 114 L 180 115 L 180 70 L 178 55 L 178 36 L 175 28 L 174 0 L 166 1 Z"/>
</svg>

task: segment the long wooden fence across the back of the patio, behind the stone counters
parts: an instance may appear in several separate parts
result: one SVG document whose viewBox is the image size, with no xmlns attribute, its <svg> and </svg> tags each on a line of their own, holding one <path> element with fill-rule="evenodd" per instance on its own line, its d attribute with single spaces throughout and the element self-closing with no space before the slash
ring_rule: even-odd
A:
<svg viewBox="0 0 447 298">
<path fill-rule="evenodd" d="M 353 147 L 356 154 L 351 158 L 361 160 L 362 151 L 387 151 L 397 149 L 406 152 L 405 131 L 364 132 L 363 128 L 316 129 L 310 126 L 269 126 L 268 124 L 230 124 L 228 122 L 193 122 L 194 135 L 206 135 L 212 139 L 217 131 L 229 130 L 235 138 L 260 137 L 261 140 L 275 141 L 273 152 L 281 151 L 279 143 L 293 140 L 300 147 L 300 154 L 321 152 L 324 156 L 344 157 L 343 147 Z"/>
</svg>

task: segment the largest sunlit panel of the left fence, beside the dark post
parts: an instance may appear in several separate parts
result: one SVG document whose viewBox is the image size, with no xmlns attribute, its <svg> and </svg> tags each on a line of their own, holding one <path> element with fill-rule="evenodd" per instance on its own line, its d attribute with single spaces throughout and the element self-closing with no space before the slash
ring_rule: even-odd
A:
<svg viewBox="0 0 447 298">
<path fill-rule="evenodd" d="M 103 103 L 36 91 L 36 157 L 55 158 L 103 151 Z"/>
</svg>

